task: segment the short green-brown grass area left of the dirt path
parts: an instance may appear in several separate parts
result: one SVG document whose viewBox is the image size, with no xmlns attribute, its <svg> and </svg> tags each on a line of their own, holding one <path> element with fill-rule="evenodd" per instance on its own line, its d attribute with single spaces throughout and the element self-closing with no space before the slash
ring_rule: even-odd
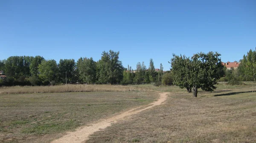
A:
<svg viewBox="0 0 256 143">
<path fill-rule="evenodd" d="M 157 97 L 156 92 L 136 91 L 0 94 L 0 142 L 47 143 Z"/>
</svg>

